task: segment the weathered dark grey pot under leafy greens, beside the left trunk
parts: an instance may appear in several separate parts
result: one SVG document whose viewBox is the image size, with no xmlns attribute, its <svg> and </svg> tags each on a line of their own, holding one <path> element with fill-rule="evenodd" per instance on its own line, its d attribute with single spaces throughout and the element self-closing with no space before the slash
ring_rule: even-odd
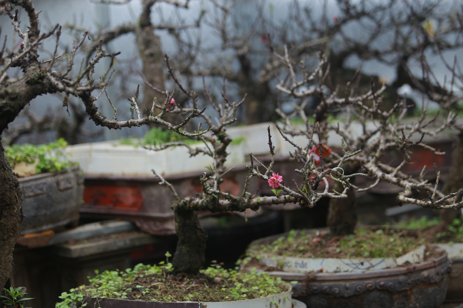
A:
<svg viewBox="0 0 463 308">
<path fill-rule="evenodd" d="M 83 176 L 78 168 L 19 178 L 23 191 L 21 235 L 54 229 L 79 219 Z"/>
</svg>

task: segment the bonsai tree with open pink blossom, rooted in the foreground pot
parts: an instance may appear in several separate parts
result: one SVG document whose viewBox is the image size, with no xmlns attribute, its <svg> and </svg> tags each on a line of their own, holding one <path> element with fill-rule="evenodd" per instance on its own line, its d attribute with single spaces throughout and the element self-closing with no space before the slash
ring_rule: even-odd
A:
<svg viewBox="0 0 463 308">
<path fill-rule="evenodd" d="M 178 88 L 183 91 L 183 93 L 188 96 L 191 101 L 191 108 L 182 108 L 180 105 L 175 104 L 173 107 L 171 106 L 169 108 L 169 113 L 191 113 L 193 110 L 198 109 L 198 95 L 195 91 L 187 91 L 184 89 L 184 87 L 175 77 L 167 56 L 166 60 L 172 79 L 175 81 Z M 232 138 L 226 132 L 226 127 L 238 121 L 235 116 L 238 108 L 246 99 L 246 95 L 240 102 L 231 102 L 226 93 L 224 79 L 222 92 L 223 102 L 217 103 L 213 101 L 211 95 L 209 94 L 204 78 L 203 84 L 205 94 L 204 96 L 207 98 L 207 103 L 209 103 L 218 113 L 218 117 L 215 119 L 215 121 L 211 119 L 210 115 L 206 115 L 204 112 L 199 115 L 210 127 L 210 131 L 208 133 L 194 137 L 202 141 L 204 143 L 204 147 L 191 147 L 187 143 L 182 142 L 170 142 L 163 145 L 154 145 L 150 147 L 145 146 L 145 148 L 154 151 L 163 150 L 169 146 L 184 146 L 188 149 L 188 152 L 191 156 L 203 154 L 213 158 L 213 164 L 211 166 L 210 173 L 207 174 L 205 172 L 200 177 L 202 192 L 196 196 L 180 198 L 179 194 L 175 191 L 175 188 L 168 181 L 166 181 L 162 175 L 157 173 L 156 170 L 153 170 L 154 174 L 161 180 L 159 183 L 169 187 L 173 196 L 175 197 L 175 201 L 172 204 L 172 209 L 175 212 L 175 232 L 179 238 L 172 261 L 175 272 L 196 273 L 200 270 L 201 266 L 204 266 L 207 237 L 204 229 L 199 223 L 198 211 L 244 212 L 246 209 L 257 211 L 261 205 L 276 205 L 289 202 L 300 202 L 304 205 L 307 204 L 313 206 L 321 197 L 329 197 L 333 199 L 347 197 L 345 192 L 341 194 L 328 192 L 328 186 L 326 186 L 326 189 L 323 193 L 316 193 L 315 188 L 314 190 L 310 190 L 309 188 L 309 191 L 307 191 L 307 189 L 303 189 L 297 185 L 295 190 L 285 186 L 282 182 L 282 177 L 272 171 L 273 165 L 275 163 L 275 146 L 272 144 L 270 127 L 268 128 L 267 133 L 269 139 L 269 152 L 272 155 L 272 159 L 269 165 L 264 165 L 262 161 L 259 161 L 252 155 L 252 153 L 250 153 L 250 166 L 244 166 L 244 168 L 250 171 L 250 175 L 246 178 L 243 193 L 241 195 L 233 195 L 231 193 L 223 192 L 220 188 L 220 184 L 224 181 L 224 175 L 232 169 L 227 169 L 224 165 L 228 156 L 226 151 L 227 147 L 232 142 Z M 161 106 L 158 108 L 161 108 Z M 349 157 L 352 157 L 356 154 L 357 152 L 345 152 L 342 159 L 343 162 L 345 159 L 348 159 Z M 307 163 L 305 163 L 301 170 L 297 170 L 301 175 L 303 175 L 303 177 L 310 174 L 310 171 L 308 170 L 312 165 L 309 162 L 312 161 L 313 159 L 311 158 L 307 161 Z M 257 163 L 256 166 L 254 165 L 254 162 Z M 263 173 L 260 173 L 259 166 L 263 168 Z M 346 187 L 349 187 L 350 179 L 355 175 L 360 175 L 342 175 L 338 169 L 340 168 L 333 167 L 324 169 L 324 171 L 318 175 L 317 181 L 326 182 L 325 176 L 329 175 L 330 172 L 333 172 L 339 175 L 340 181 L 343 181 Z M 280 188 L 283 193 L 281 191 L 275 191 L 275 196 L 263 197 L 249 193 L 247 191 L 247 186 L 250 178 L 253 176 L 268 181 L 271 187 Z"/>
</svg>

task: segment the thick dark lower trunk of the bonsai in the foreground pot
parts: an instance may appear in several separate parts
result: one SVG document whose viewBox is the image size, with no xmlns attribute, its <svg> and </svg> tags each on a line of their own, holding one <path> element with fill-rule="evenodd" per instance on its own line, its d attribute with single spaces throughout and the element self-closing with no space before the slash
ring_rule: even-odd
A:
<svg viewBox="0 0 463 308">
<path fill-rule="evenodd" d="M 206 261 L 206 233 L 197 211 L 180 208 L 174 211 L 178 242 L 172 264 L 175 272 L 196 274 Z"/>
</svg>

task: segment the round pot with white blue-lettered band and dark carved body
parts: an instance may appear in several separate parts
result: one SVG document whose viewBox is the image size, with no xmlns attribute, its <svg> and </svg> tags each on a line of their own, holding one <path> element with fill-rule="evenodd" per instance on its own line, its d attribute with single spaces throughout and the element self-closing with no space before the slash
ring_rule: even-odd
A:
<svg viewBox="0 0 463 308">
<path fill-rule="evenodd" d="M 253 244 L 269 244 L 287 235 L 269 236 Z M 434 308 L 444 302 L 452 265 L 444 252 L 427 260 L 424 252 L 423 245 L 398 258 L 321 259 L 261 254 L 258 264 L 251 262 L 244 268 L 256 266 L 258 271 L 291 282 L 293 298 L 310 308 Z"/>
</svg>

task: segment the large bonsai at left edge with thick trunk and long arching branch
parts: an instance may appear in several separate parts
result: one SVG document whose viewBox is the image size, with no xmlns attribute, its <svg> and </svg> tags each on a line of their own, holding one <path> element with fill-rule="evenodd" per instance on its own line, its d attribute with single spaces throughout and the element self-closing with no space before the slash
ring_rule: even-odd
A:
<svg viewBox="0 0 463 308">
<path fill-rule="evenodd" d="M 19 24 L 19 10 L 16 6 L 21 7 L 27 13 L 29 26 L 23 31 Z M 0 132 L 3 132 L 21 109 L 31 103 L 35 97 L 44 94 L 63 93 L 65 99 L 63 105 L 66 106 L 69 96 L 79 98 L 85 106 L 89 118 L 96 125 L 108 127 L 109 129 L 122 129 L 123 127 L 138 127 L 147 124 L 159 124 L 168 129 L 180 133 L 183 136 L 197 136 L 209 131 L 200 131 L 198 133 L 187 133 L 181 131 L 181 128 L 192 118 L 200 115 L 202 111 L 189 109 L 190 112 L 186 119 L 178 125 L 165 121 L 167 107 L 175 94 L 166 92 L 167 99 L 162 103 L 162 112 L 159 115 L 153 115 L 156 98 L 151 108 L 151 113 L 146 112 L 141 116 L 138 108 L 138 89 L 135 97 L 129 98 L 131 104 L 131 119 L 120 121 L 117 118 L 117 109 L 109 100 L 106 92 L 106 85 L 111 78 L 114 58 L 119 53 L 106 53 L 103 48 L 103 42 L 100 40 L 94 57 L 88 61 L 79 71 L 74 70 L 74 61 L 76 52 L 83 42 L 88 38 L 88 32 L 85 31 L 79 42 L 74 42 L 72 49 L 67 58 L 68 63 L 62 63 L 60 60 L 61 50 L 59 50 L 59 40 L 61 36 L 61 26 L 56 24 L 48 32 L 41 33 L 39 30 L 39 12 L 34 8 L 32 0 L 0 0 L 0 14 L 7 15 L 13 24 L 16 35 L 21 39 L 19 49 L 8 50 L 6 40 L 0 51 Z M 47 38 L 55 36 L 56 47 L 54 48 L 51 59 L 39 60 L 38 47 Z M 95 65 L 103 58 L 110 58 L 110 64 L 100 73 L 99 81 L 94 79 Z M 62 64 L 57 66 L 57 64 Z M 18 78 L 10 78 L 9 72 L 12 68 L 20 67 L 22 74 Z M 94 96 L 94 91 L 97 95 Z M 112 119 L 107 119 L 98 110 L 95 101 L 105 93 L 108 102 L 113 106 L 114 115 Z M 23 215 L 22 192 L 19 181 L 13 173 L 10 164 L 5 156 L 3 146 L 0 145 L 0 286 L 6 284 L 7 279 L 13 266 L 13 247 L 21 231 L 21 223 L 25 219 Z M 27 218 L 26 218 L 27 219 Z"/>
</svg>

